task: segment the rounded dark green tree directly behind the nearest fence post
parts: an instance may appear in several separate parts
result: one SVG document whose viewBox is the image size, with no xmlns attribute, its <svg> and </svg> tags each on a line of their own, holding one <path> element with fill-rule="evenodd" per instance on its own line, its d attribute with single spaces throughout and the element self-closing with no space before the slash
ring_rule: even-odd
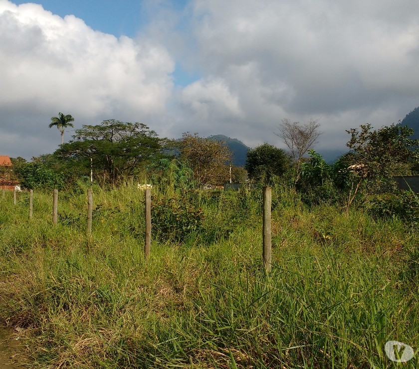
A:
<svg viewBox="0 0 419 369">
<path fill-rule="evenodd" d="M 270 183 L 274 176 L 281 176 L 289 167 L 289 155 L 267 143 L 250 149 L 244 165 L 251 179 L 266 184 Z"/>
</svg>

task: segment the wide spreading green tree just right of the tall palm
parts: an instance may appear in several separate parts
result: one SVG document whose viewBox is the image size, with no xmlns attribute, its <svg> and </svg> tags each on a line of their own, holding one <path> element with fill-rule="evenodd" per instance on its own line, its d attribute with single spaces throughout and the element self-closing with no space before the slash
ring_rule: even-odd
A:
<svg viewBox="0 0 419 369">
<path fill-rule="evenodd" d="M 84 125 L 55 154 L 85 168 L 86 174 L 92 168 L 104 182 L 116 183 L 123 176 L 134 175 L 160 149 L 161 140 L 146 125 L 111 119 L 96 126 Z"/>
</svg>

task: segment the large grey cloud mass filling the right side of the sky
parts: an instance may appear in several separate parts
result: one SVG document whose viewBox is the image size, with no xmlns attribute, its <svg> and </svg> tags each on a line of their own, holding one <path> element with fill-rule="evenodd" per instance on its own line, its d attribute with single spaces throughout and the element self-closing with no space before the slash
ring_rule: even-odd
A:
<svg viewBox="0 0 419 369">
<path fill-rule="evenodd" d="M 344 149 L 345 129 L 391 124 L 419 105 L 418 14 L 414 0 L 196 0 L 191 34 L 201 70 L 241 109 L 224 131 L 279 144 L 282 118 L 319 119 L 319 147 Z M 201 125 L 222 120 L 203 111 Z"/>
</svg>

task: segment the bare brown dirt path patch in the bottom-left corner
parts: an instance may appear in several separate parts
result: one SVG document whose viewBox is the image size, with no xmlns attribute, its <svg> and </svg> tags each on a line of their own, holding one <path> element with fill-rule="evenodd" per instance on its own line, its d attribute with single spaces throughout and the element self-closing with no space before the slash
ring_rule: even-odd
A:
<svg viewBox="0 0 419 369">
<path fill-rule="evenodd" d="M 22 369 L 25 368 L 19 363 L 22 360 L 23 346 L 18 335 L 5 327 L 0 321 L 0 369 Z"/>
</svg>

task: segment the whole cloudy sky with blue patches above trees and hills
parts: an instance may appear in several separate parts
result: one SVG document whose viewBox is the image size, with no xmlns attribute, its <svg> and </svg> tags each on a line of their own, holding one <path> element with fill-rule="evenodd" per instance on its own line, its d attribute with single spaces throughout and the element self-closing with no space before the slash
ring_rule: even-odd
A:
<svg viewBox="0 0 419 369">
<path fill-rule="evenodd" d="M 161 137 L 249 147 L 282 119 L 317 120 L 314 147 L 419 106 L 418 0 L 0 0 L 0 155 L 25 159 L 106 119 Z"/>
</svg>

